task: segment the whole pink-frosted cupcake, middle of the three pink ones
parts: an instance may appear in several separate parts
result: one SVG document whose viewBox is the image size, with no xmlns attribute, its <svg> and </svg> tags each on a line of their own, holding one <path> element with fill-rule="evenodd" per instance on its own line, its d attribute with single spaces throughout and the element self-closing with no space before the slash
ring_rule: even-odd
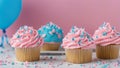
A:
<svg viewBox="0 0 120 68">
<path fill-rule="evenodd" d="M 91 36 L 76 26 L 72 27 L 61 44 L 65 49 L 66 61 L 76 64 L 91 62 L 93 45 Z"/>
</svg>

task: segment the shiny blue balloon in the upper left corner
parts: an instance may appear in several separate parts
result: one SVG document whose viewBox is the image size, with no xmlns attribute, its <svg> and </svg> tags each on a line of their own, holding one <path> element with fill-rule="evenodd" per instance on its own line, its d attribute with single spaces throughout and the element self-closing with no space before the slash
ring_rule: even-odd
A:
<svg viewBox="0 0 120 68">
<path fill-rule="evenodd" d="M 0 0 L 0 29 L 5 30 L 18 18 L 22 0 Z"/>
</svg>

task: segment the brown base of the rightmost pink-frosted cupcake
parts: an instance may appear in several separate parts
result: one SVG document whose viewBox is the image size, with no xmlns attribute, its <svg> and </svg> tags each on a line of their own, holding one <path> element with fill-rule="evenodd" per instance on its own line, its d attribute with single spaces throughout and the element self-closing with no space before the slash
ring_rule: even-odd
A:
<svg viewBox="0 0 120 68">
<path fill-rule="evenodd" d="M 116 45 L 96 46 L 96 55 L 100 59 L 116 59 L 119 56 L 119 47 Z"/>
</svg>

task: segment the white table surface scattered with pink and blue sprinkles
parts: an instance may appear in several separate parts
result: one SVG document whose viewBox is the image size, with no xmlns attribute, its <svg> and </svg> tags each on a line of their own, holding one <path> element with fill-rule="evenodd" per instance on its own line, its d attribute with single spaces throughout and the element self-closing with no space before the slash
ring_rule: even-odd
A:
<svg viewBox="0 0 120 68">
<path fill-rule="evenodd" d="M 37 62 L 19 62 L 15 59 L 14 49 L 0 48 L 0 68 L 120 68 L 120 57 L 114 60 L 97 59 L 86 64 L 72 64 L 65 61 L 65 55 L 41 55 Z"/>
</svg>

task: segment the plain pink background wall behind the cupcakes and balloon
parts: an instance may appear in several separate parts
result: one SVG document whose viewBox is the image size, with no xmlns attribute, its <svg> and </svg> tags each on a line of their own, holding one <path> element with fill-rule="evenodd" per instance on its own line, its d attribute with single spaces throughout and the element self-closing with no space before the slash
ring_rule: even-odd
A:
<svg viewBox="0 0 120 68">
<path fill-rule="evenodd" d="M 104 21 L 120 31 L 120 0 L 23 0 L 20 17 L 7 33 L 12 36 L 21 25 L 38 29 L 48 21 L 63 28 L 65 34 L 73 25 L 93 34 Z"/>
</svg>

